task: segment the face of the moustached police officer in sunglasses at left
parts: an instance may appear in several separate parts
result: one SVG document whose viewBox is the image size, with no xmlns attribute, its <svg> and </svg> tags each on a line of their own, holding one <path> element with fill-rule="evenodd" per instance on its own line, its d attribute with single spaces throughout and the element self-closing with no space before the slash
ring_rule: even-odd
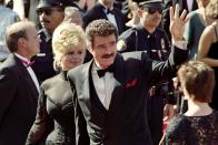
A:
<svg viewBox="0 0 218 145">
<path fill-rule="evenodd" d="M 65 12 L 60 8 L 40 8 L 37 10 L 42 28 L 52 33 L 54 29 L 62 22 Z"/>
</svg>

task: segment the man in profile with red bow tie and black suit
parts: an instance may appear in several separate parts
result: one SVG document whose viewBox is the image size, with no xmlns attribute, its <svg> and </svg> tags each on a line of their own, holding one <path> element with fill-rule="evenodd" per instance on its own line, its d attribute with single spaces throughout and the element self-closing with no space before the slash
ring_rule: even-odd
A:
<svg viewBox="0 0 218 145">
<path fill-rule="evenodd" d="M 30 58 L 39 52 L 39 41 L 32 22 L 7 31 L 11 54 L 0 66 L 0 145 L 23 145 L 34 121 L 39 83 Z"/>
</svg>

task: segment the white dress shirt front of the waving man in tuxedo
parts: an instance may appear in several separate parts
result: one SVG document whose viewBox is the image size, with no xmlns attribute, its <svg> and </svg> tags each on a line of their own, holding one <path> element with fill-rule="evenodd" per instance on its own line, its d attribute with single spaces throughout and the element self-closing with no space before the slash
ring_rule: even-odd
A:
<svg viewBox="0 0 218 145">
<path fill-rule="evenodd" d="M 105 76 L 99 77 L 97 69 L 98 68 L 93 64 L 91 70 L 93 86 L 102 105 L 106 110 L 109 110 L 112 91 L 115 89 L 113 73 L 106 72 Z"/>
</svg>

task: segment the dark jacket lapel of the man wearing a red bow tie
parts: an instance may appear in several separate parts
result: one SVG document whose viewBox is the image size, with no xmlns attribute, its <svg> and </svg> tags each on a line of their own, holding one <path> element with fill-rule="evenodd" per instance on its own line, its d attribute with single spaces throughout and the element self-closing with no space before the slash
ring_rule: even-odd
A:
<svg viewBox="0 0 218 145">
<path fill-rule="evenodd" d="M 21 77 L 24 77 L 26 82 L 28 83 L 28 87 L 31 90 L 33 96 L 36 99 L 38 99 L 39 92 L 37 90 L 37 86 L 34 84 L 32 77 L 30 76 L 27 68 L 21 63 L 21 61 L 17 56 L 14 56 L 14 60 L 16 60 L 16 63 L 17 63 L 17 66 L 18 66 L 18 73 L 19 73 L 19 75 Z"/>
</svg>

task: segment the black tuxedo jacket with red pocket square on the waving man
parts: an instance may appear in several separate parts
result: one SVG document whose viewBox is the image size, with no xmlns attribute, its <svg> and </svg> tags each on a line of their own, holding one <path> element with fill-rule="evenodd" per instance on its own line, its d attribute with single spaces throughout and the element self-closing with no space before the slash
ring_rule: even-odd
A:
<svg viewBox="0 0 218 145">
<path fill-rule="evenodd" d="M 187 58 L 187 51 L 172 49 L 165 62 L 151 61 L 145 52 L 117 54 L 116 79 L 109 110 L 102 110 L 93 89 L 93 61 L 68 73 L 76 114 L 77 144 L 83 144 L 87 122 L 91 145 L 149 145 L 146 100 L 150 86 L 175 75 L 175 66 Z"/>
</svg>

